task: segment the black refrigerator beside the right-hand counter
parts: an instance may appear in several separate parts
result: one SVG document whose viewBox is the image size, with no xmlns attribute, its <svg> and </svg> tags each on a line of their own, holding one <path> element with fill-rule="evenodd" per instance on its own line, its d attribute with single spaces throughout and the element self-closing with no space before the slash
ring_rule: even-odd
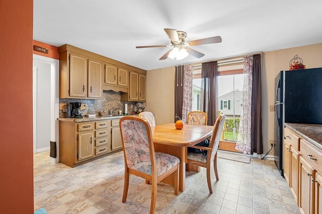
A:
<svg viewBox="0 0 322 214">
<path fill-rule="evenodd" d="M 282 176 L 284 123 L 322 124 L 322 68 L 280 71 L 275 78 L 274 160 Z"/>
</svg>

